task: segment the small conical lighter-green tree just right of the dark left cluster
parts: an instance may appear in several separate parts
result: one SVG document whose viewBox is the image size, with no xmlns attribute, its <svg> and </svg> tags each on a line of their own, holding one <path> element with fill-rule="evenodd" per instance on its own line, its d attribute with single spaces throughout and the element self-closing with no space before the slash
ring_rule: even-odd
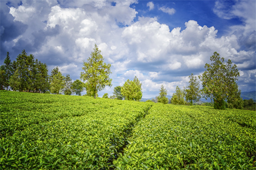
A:
<svg viewBox="0 0 256 170">
<path fill-rule="evenodd" d="M 59 71 L 58 66 L 52 69 L 50 76 L 50 91 L 54 94 L 59 94 L 64 88 L 65 77 Z"/>
</svg>

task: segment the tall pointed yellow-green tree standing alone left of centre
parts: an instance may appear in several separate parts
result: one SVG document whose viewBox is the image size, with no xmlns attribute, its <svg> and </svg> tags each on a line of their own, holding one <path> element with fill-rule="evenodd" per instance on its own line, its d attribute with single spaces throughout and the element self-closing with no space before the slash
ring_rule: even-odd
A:
<svg viewBox="0 0 256 170">
<path fill-rule="evenodd" d="M 85 88 L 87 94 L 94 96 L 98 91 L 102 90 L 106 85 L 111 86 L 112 79 L 109 78 L 111 64 L 106 64 L 103 62 L 104 58 L 101 55 L 101 50 L 95 44 L 93 51 L 91 52 L 91 57 L 87 59 L 87 62 L 83 62 L 80 78 L 85 82 Z"/>
</svg>

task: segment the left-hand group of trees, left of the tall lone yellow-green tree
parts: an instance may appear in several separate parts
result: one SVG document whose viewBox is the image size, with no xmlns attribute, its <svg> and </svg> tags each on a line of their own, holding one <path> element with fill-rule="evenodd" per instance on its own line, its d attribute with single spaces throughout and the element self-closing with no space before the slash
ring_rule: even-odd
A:
<svg viewBox="0 0 256 170">
<path fill-rule="evenodd" d="M 47 64 L 28 55 L 24 49 L 14 61 L 7 52 L 4 64 L 0 66 L 0 87 L 2 90 L 81 95 L 84 83 L 79 79 L 72 82 L 70 75 L 63 76 L 58 67 L 48 75 Z"/>
</svg>

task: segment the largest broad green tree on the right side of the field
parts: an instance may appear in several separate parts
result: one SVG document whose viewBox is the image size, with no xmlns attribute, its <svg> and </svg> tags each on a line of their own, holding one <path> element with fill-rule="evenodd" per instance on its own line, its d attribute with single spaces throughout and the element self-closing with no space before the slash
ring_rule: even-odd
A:
<svg viewBox="0 0 256 170">
<path fill-rule="evenodd" d="M 207 99 L 210 97 L 214 101 L 214 108 L 225 109 L 226 100 L 231 98 L 240 98 L 238 85 L 239 72 L 230 59 L 224 63 L 224 58 L 220 58 L 217 52 L 210 57 L 211 64 L 206 63 L 206 70 L 199 78 L 202 81 L 202 92 Z"/>
</svg>

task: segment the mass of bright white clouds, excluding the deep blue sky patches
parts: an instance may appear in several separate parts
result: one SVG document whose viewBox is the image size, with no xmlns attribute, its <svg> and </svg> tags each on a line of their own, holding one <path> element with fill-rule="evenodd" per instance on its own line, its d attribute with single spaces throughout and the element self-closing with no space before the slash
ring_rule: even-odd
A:
<svg viewBox="0 0 256 170">
<path fill-rule="evenodd" d="M 185 22 L 183 30 L 181 27 L 170 30 L 167 24 L 158 21 L 158 17 L 138 17 L 134 21 L 138 12 L 130 5 L 135 0 L 116 1 L 115 6 L 107 0 L 59 2 L 23 1 L 23 5 L 11 7 L 10 13 L 15 20 L 27 24 L 28 29 L 6 44 L 16 47 L 21 39 L 27 38 L 33 46 L 38 42 L 35 36 L 38 33 L 44 38 L 33 54 L 48 65 L 51 63 L 49 69 L 58 65 L 63 74 L 70 73 L 77 79 L 82 61 L 87 60 L 96 43 L 104 61 L 111 63 L 113 86 L 107 91 L 136 75 L 143 83 L 144 96 L 158 94 L 161 84 L 168 89 L 168 94 L 172 94 L 177 85 L 182 88 L 191 72 L 199 73 L 204 64 L 210 62 L 214 51 L 238 66 L 243 72 L 240 81 L 249 82 L 252 79 L 248 77 L 254 76 L 253 72 L 246 72 L 248 67 L 255 67 L 255 49 L 251 45 L 255 36 L 251 33 L 255 30 L 255 16 L 251 1 L 238 1 L 229 13 L 223 13 L 225 6 L 216 2 L 219 7 L 216 5 L 214 12 L 220 17 L 238 16 L 244 20 L 244 25 L 232 26 L 232 32 L 221 37 L 217 37 L 218 30 L 214 26 L 199 25 L 195 20 Z M 153 10 L 155 5 L 148 2 L 147 7 Z M 164 6 L 159 10 L 175 13 L 174 8 Z M 3 29 L 1 27 L 1 33 Z M 240 36 L 252 50 L 240 49 Z"/>
</svg>

